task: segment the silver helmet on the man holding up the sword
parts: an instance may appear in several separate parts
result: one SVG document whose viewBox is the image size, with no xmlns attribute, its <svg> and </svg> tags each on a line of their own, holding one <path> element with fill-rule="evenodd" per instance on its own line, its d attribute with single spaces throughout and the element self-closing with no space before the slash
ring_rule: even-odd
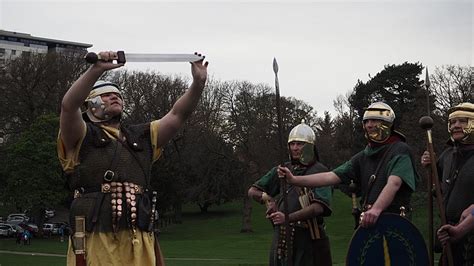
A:
<svg viewBox="0 0 474 266">
<path fill-rule="evenodd" d="M 86 114 L 92 122 L 104 122 L 112 119 L 112 117 L 107 114 L 104 102 L 100 97 L 100 95 L 110 92 L 117 93 L 123 102 L 122 94 L 120 93 L 118 85 L 115 83 L 99 80 L 92 87 L 85 101 Z"/>
</svg>

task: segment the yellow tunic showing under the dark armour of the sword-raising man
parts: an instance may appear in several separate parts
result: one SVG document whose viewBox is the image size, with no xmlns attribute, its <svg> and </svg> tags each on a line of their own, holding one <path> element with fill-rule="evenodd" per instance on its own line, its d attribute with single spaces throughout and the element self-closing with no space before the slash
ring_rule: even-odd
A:
<svg viewBox="0 0 474 266">
<path fill-rule="evenodd" d="M 161 155 L 158 147 L 159 120 L 150 123 L 151 145 L 153 147 L 153 161 Z M 112 127 L 100 126 L 111 138 L 117 139 L 119 130 Z M 86 127 L 74 152 L 66 155 L 64 144 L 61 141 L 61 132 L 58 135 L 57 152 L 61 166 L 65 172 L 71 172 L 79 162 L 79 152 L 82 141 L 86 135 Z M 164 265 L 163 262 L 156 264 L 154 236 L 148 232 L 137 229 L 136 239 L 138 243 L 132 244 L 132 232 L 129 229 L 119 230 L 116 234 L 104 232 L 86 233 L 86 265 Z M 74 250 L 69 240 L 67 265 L 76 265 Z"/>
</svg>

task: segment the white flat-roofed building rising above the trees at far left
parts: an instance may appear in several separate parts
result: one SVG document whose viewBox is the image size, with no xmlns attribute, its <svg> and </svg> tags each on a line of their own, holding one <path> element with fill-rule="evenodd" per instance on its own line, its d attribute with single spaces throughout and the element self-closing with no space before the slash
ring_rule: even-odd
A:
<svg viewBox="0 0 474 266">
<path fill-rule="evenodd" d="M 83 51 L 92 44 L 35 37 L 27 33 L 0 30 L 0 65 L 22 53 Z"/>
</svg>

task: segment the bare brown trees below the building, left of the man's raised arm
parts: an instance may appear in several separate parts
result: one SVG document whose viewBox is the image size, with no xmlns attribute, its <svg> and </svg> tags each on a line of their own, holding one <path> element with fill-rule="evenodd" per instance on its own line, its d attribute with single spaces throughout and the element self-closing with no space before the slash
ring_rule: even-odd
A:
<svg viewBox="0 0 474 266">
<path fill-rule="evenodd" d="M 26 130 L 44 114 L 59 113 L 60 101 L 87 68 L 77 53 L 27 54 L 0 68 L 0 132 Z"/>
</svg>

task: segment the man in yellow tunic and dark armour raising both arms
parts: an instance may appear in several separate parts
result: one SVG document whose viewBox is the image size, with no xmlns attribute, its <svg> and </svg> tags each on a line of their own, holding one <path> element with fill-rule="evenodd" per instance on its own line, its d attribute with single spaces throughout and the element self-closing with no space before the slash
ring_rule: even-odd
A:
<svg viewBox="0 0 474 266">
<path fill-rule="evenodd" d="M 80 232 L 85 234 L 85 259 L 74 259 L 78 247 L 74 244 L 79 242 L 73 238 L 68 265 L 163 265 L 152 230 L 156 194 L 151 195 L 150 169 L 160 157 L 161 147 L 195 109 L 206 83 L 208 63 L 203 57 L 191 62 L 192 84 L 164 117 L 124 125 L 119 87 L 98 81 L 106 71 L 124 64 L 113 63 L 118 58 L 116 52 L 101 52 L 98 57 L 66 92 L 61 104 L 57 146 L 68 186 L 74 191 L 72 229 L 77 217 L 85 220 L 85 232 Z"/>
</svg>

